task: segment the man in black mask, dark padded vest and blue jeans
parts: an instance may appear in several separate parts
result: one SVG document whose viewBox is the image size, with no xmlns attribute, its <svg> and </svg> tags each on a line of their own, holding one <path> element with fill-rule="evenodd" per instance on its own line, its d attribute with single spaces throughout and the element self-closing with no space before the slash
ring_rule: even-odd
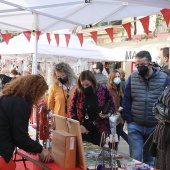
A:
<svg viewBox="0 0 170 170">
<path fill-rule="evenodd" d="M 157 124 L 153 104 L 170 81 L 167 74 L 152 67 L 148 51 L 138 52 L 135 60 L 138 71 L 127 80 L 122 117 L 127 122 L 130 156 L 154 166 L 154 158 L 142 151 L 142 146 Z"/>
</svg>

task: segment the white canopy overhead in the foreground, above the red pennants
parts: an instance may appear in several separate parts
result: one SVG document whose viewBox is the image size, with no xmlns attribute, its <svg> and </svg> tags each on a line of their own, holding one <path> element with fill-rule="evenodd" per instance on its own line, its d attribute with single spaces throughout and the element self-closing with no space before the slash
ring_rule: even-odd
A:
<svg viewBox="0 0 170 170">
<path fill-rule="evenodd" d="M 167 0 L 0 0 L 0 29 L 50 32 L 148 16 L 167 7 Z"/>
</svg>

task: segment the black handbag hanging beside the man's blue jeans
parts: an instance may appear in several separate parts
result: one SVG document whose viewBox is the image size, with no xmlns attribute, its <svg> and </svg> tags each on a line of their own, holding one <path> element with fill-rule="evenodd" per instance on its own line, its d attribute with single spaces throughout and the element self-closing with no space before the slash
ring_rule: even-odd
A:
<svg viewBox="0 0 170 170">
<path fill-rule="evenodd" d="M 150 134 L 148 139 L 143 145 L 143 150 L 149 155 L 156 157 L 157 155 L 157 143 L 153 141 L 154 131 Z"/>
</svg>

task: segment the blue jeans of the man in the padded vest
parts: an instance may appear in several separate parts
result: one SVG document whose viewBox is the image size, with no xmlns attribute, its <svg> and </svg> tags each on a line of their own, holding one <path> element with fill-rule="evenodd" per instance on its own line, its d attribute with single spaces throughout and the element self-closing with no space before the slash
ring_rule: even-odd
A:
<svg viewBox="0 0 170 170">
<path fill-rule="evenodd" d="M 155 165 L 155 158 L 143 151 L 142 146 L 154 130 L 154 127 L 141 126 L 135 122 L 131 122 L 128 123 L 127 128 L 130 156 L 133 159 L 144 162 L 153 167 Z"/>
</svg>

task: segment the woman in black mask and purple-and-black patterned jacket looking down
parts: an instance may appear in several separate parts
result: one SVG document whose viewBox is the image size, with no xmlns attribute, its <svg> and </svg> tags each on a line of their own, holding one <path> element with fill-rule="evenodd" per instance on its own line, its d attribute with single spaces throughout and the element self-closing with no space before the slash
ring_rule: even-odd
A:
<svg viewBox="0 0 170 170">
<path fill-rule="evenodd" d="M 111 101 L 108 114 L 102 114 L 102 109 Z M 77 89 L 71 100 L 69 114 L 72 119 L 80 121 L 83 141 L 100 145 L 102 132 L 108 133 L 109 116 L 115 111 L 115 104 L 109 89 L 98 84 L 94 74 L 83 71 L 77 81 Z"/>
</svg>

